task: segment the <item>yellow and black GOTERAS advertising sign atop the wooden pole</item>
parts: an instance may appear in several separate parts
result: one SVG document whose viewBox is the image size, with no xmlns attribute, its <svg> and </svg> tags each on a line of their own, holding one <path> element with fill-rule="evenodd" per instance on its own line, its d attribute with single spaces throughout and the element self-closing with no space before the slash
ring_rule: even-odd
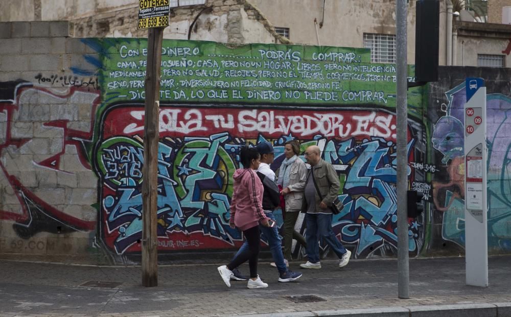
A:
<svg viewBox="0 0 511 317">
<path fill-rule="evenodd" d="M 138 1 L 138 29 L 169 26 L 170 0 Z"/>
</svg>

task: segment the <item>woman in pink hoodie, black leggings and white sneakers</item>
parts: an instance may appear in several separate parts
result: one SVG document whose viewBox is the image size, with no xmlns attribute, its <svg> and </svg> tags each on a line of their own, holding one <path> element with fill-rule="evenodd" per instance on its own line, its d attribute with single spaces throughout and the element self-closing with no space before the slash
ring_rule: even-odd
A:
<svg viewBox="0 0 511 317">
<path fill-rule="evenodd" d="M 243 147 L 240 151 L 240 162 L 244 168 L 234 173 L 234 193 L 230 203 L 231 228 L 238 227 L 248 242 L 248 250 L 237 254 L 229 264 L 218 267 L 218 273 L 223 281 L 230 287 L 230 276 L 233 268 L 240 266 L 248 260 L 250 279 L 248 288 L 268 287 L 257 274 L 257 262 L 260 245 L 259 222 L 269 227 L 269 218 L 263 211 L 263 184 L 255 170 L 259 168 L 261 157 L 255 148 Z"/>
</svg>

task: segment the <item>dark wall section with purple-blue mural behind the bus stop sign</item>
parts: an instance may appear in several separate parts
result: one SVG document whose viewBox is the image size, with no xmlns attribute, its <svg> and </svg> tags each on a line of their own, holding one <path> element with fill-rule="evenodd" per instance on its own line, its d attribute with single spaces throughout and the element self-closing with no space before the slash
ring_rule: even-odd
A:
<svg viewBox="0 0 511 317">
<path fill-rule="evenodd" d="M 511 109 L 509 69 L 449 67 L 440 71 L 441 80 L 431 85 L 428 120 L 432 123 L 434 174 L 431 249 L 462 252 L 464 248 L 464 78 L 481 77 L 487 87 L 488 153 L 488 243 L 491 253 L 511 251 L 511 178 L 508 111 Z"/>
</svg>

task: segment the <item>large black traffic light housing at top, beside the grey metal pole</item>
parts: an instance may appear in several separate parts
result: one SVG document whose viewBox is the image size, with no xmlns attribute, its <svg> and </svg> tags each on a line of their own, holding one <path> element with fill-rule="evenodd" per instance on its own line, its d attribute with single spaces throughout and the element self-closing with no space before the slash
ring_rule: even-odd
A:
<svg viewBox="0 0 511 317">
<path fill-rule="evenodd" d="M 415 83 L 410 83 L 410 87 L 438 81 L 440 2 L 418 0 L 416 5 Z"/>
</svg>

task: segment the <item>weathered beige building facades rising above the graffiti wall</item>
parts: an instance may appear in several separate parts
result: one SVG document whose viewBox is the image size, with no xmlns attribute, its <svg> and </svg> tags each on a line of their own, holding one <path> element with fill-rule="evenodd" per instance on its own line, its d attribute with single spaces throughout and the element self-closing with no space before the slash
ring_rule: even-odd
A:
<svg viewBox="0 0 511 317">
<path fill-rule="evenodd" d="M 69 20 L 76 37 L 147 36 L 146 30 L 136 29 L 137 2 L 133 0 L 21 0 L 19 3 L 0 0 L 0 3 L 6 8 L 0 12 L 0 21 Z M 502 8 L 506 5 L 509 0 L 489 0 L 489 22 L 500 24 Z M 164 37 L 240 44 L 370 48 L 374 62 L 392 63 L 396 59 L 395 7 L 396 2 L 390 0 L 207 0 L 204 6 L 172 10 L 171 25 L 166 28 Z M 460 21 L 453 13 L 451 1 L 441 0 L 440 65 L 477 66 L 478 58 L 503 59 L 502 65 L 509 65 L 509 54 L 502 53 L 508 44 L 508 37 L 501 37 L 506 36 L 505 30 L 496 36 L 495 27 L 474 26 L 472 29 L 477 32 L 469 36 L 463 31 L 457 38 L 456 22 Z M 415 60 L 415 22 L 415 1 L 410 1 L 409 64 Z M 467 26 L 463 25 L 462 29 L 465 28 Z"/>
</svg>

